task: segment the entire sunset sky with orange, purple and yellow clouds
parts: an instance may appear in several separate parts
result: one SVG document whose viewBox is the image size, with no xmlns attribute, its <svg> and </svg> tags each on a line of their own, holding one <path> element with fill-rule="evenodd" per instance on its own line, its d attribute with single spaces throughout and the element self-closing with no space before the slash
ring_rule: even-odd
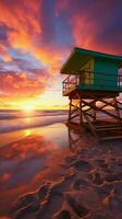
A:
<svg viewBox="0 0 122 219">
<path fill-rule="evenodd" d="M 0 0 L 0 108 L 66 108 L 75 46 L 122 55 L 122 1 Z"/>
</svg>

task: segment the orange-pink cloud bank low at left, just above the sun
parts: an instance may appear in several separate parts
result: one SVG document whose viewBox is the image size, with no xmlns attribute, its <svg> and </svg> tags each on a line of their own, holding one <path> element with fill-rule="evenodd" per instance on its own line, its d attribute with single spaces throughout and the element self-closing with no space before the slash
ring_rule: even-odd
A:
<svg viewBox="0 0 122 219">
<path fill-rule="evenodd" d="M 0 73 L 0 89 L 4 96 L 21 99 L 38 95 L 48 87 L 47 79 L 48 73 L 39 69 L 34 69 L 30 74 L 3 71 Z"/>
</svg>

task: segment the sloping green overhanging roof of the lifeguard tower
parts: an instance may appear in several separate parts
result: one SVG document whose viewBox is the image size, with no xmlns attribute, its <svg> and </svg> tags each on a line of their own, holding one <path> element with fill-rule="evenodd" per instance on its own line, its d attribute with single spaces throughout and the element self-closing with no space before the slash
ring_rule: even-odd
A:
<svg viewBox="0 0 122 219">
<path fill-rule="evenodd" d="M 110 54 L 103 54 L 94 50 L 87 50 L 83 48 L 75 47 L 71 55 L 69 56 L 68 60 L 61 68 L 61 73 L 73 74 L 76 73 L 91 58 L 100 58 L 100 59 L 109 59 L 117 61 L 119 68 L 122 67 L 122 56 L 115 56 Z"/>
</svg>

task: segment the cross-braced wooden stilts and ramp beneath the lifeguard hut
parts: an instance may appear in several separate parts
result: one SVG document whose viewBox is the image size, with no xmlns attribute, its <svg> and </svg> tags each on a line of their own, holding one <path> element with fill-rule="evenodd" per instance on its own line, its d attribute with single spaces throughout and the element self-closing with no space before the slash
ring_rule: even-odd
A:
<svg viewBox="0 0 122 219">
<path fill-rule="evenodd" d="M 100 139 L 120 138 L 122 137 L 122 107 L 119 104 L 117 99 L 111 96 L 89 100 L 82 99 L 78 94 L 72 95 L 70 96 L 69 123 L 78 123 L 80 126 L 87 127 L 96 138 L 99 135 Z M 101 113 L 109 118 L 107 123 L 101 119 Z M 111 136 L 108 136 L 109 132 Z"/>
</svg>

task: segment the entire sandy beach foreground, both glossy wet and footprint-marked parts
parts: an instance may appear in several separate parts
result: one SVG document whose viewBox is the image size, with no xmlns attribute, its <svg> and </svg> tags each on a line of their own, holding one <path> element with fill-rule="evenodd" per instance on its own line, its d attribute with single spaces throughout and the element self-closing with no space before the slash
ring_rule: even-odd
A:
<svg viewBox="0 0 122 219">
<path fill-rule="evenodd" d="M 61 124 L 51 128 L 48 139 L 36 131 L 0 149 L 1 216 L 121 219 L 122 141 L 98 143 L 68 135 Z"/>
</svg>

